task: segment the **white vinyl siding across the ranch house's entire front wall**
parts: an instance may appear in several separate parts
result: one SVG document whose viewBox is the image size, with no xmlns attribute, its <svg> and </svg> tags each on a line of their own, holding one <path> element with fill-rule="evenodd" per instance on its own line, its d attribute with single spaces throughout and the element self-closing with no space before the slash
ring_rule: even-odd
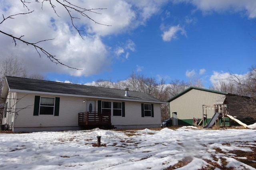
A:
<svg viewBox="0 0 256 170">
<path fill-rule="evenodd" d="M 59 116 L 54 115 L 38 115 L 33 116 L 35 96 L 40 97 L 60 97 Z M 55 95 L 41 95 L 41 94 L 25 94 L 19 93 L 18 98 L 22 98 L 16 105 L 17 108 L 26 108 L 18 113 L 15 120 L 16 128 L 34 127 L 52 127 L 51 129 L 58 129 L 58 127 L 74 127 L 78 126 L 78 113 L 86 111 L 85 98 L 82 97 L 65 97 Z M 90 100 L 90 99 L 88 99 Z M 125 103 L 125 117 L 111 116 L 112 125 L 156 125 L 160 127 L 161 124 L 161 110 L 160 103 L 154 103 L 154 117 L 141 117 L 141 102 L 132 101 L 116 101 L 116 100 L 102 100 Z M 98 101 L 95 102 L 96 111 L 98 111 Z M 147 103 L 152 104 L 152 103 Z M 15 128 L 14 127 L 14 128 Z M 15 130 L 15 129 L 14 129 Z"/>
</svg>

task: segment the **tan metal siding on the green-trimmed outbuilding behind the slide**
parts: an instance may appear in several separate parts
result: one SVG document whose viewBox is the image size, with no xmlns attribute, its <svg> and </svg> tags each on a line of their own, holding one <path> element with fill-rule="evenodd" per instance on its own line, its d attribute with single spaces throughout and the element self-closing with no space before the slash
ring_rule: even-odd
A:
<svg viewBox="0 0 256 170">
<path fill-rule="evenodd" d="M 177 112 L 178 119 L 202 119 L 203 105 L 214 105 L 215 99 L 220 96 L 225 95 L 192 89 L 170 102 L 170 116 L 172 112 Z M 207 111 L 207 118 L 213 115 L 214 110 Z"/>
</svg>

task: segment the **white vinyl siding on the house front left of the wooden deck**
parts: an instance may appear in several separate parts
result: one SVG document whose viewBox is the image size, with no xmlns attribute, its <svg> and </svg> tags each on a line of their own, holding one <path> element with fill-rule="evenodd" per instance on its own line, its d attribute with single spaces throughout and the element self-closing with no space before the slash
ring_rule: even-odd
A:
<svg viewBox="0 0 256 170">
<path fill-rule="evenodd" d="M 22 94 L 18 97 L 22 98 L 17 103 L 17 108 L 25 108 L 19 112 L 15 122 L 15 127 L 68 127 L 78 126 L 78 113 L 85 112 L 86 103 L 84 98 L 80 97 L 63 97 L 40 95 L 41 97 L 60 97 L 59 116 L 54 115 L 38 115 L 33 116 L 35 95 L 40 94 Z"/>
</svg>

